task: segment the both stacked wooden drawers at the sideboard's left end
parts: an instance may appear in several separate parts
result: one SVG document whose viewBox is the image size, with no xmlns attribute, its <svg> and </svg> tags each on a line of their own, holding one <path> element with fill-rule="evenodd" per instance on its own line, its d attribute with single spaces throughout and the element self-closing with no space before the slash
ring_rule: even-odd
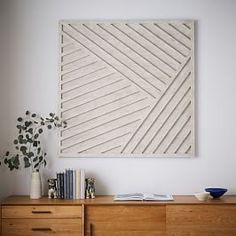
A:
<svg viewBox="0 0 236 236">
<path fill-rule="evenodd" d="M 2 207 L 2 236 L 82 235 L 82 207 L 29 205 Z"/>
</svg>

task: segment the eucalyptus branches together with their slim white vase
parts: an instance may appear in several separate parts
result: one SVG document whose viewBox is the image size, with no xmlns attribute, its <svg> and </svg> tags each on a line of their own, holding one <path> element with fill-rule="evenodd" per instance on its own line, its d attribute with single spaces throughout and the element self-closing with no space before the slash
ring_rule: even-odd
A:
<svg viewBox="0 0 236 236">
<path fill-rule="evenodd" d="M 41 145 L 43 133 L 53 128 L 65 128 L 66 122 L 61 121 L 54 113 L 42 117 L 30 111 L 25 112 L 24 117 L 17 118 L 17 137 L 13 144 L 15 152 L 7 151 L 3 157 L 4 164 L 10 171 L 16 169 L 31 168 L 31 190 L 30 197 L 37 199 L 41 197 L 41 180 L 39 170 L 47 165 L 47 153 Z"/>
</svg>

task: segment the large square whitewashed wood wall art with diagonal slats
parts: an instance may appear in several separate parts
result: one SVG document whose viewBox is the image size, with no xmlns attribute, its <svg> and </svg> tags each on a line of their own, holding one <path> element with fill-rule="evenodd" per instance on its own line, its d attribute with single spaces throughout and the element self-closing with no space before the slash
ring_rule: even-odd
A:
<svg viewBox="0 0 236 236">
<path fill-rule="evenodd" d="M 60 156 L 193 156 L 193 21 L 61 21 Z"/>
</svg>

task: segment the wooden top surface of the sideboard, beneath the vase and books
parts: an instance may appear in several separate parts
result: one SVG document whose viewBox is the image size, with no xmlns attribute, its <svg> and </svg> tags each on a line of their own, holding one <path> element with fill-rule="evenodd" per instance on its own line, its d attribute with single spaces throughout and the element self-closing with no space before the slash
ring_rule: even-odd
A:
<svg viewBox="0 0 236 236">
<path fill-rule="evenodd" d="M 96 196 L 95 199 L 72 200 L 72 199 L 41 199 L 32 200 L 29 196 L 10 196 L 2 201 L 2 206 L 11 205 L 221 205 L 236 204 L 236 195 L 226 195 L 220 199 L 198 201 L 192 195 L 175 195 L 174 201 L 114 201 L 114 196 Z"/>
</svg>

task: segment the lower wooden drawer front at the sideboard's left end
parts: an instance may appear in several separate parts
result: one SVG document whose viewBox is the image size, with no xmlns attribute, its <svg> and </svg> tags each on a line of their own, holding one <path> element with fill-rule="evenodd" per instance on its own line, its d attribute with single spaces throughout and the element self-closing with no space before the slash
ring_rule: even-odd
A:
<svg viewBox="0 0 236 236">
<path fill-rule="evenodd" d="M 2 236 L 81 236 L 81 219 L 3 219 Z"/>
</svg>

